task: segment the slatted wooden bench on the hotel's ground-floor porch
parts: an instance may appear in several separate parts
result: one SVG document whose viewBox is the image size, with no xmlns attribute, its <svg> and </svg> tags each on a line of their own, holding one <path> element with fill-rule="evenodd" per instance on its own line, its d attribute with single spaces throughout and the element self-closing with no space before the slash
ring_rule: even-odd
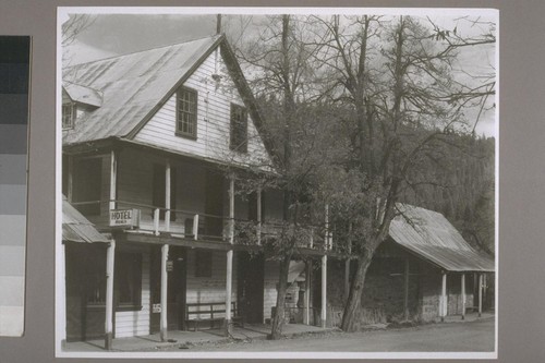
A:
<svg viewBox="0 0 545 363">
<path fill-rule="evenodd" d="M 244 327 L 244 318 L 238 314 L 237 303 L 231 302 L 231 322 Z M 193 324 L 193 330 L 198 330 L 201 323 L 209 323 L 210 329 L 214 323 L 226 319 L 226 302 L 206 302 L 185 304 L 185 326 Z"/>
</svg>

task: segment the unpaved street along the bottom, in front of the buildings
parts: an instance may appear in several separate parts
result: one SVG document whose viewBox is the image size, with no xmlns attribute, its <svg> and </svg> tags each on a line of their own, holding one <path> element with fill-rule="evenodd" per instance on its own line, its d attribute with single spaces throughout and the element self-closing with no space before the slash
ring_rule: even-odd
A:
<svg viewBox="0 0 545 363">
<path fill-rule="evenodd" d="M 494 319 L 433 324 L 414 328 L 330 332 L 278 341 L 222 343 L 192 347 L 191 351 L 244 352 L 489 352 L 494 351 Z"/>
</svg>

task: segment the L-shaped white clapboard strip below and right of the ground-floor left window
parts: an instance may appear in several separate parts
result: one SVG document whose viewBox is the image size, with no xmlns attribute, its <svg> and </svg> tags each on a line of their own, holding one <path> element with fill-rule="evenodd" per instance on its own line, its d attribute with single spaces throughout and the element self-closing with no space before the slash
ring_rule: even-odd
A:
<svg viewBox="0 0 545 363">
<path fill-rule="evenodd" d="M 116 313 L 116 338 L 149 334 L 149 254 L 142 254 L 142 310 Z"/>
</svg>

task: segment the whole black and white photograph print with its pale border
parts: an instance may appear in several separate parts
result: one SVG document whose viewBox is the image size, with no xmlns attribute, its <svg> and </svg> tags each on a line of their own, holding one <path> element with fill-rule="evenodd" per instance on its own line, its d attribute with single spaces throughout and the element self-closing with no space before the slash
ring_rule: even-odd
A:
<svg viewBox="0 0 545 363">
<path fill-rule="evenodd" d="M 57 15 L 57 356 L 497 358 L 497 10 Z"/>
</svg>

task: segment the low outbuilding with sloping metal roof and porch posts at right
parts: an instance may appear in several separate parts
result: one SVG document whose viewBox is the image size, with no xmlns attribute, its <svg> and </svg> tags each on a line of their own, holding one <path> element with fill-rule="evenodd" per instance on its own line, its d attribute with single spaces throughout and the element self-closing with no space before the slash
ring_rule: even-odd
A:
<svg viewBox="0 0 545 363">
<path fill-rule="evenodd" d="M 389 238 L 367 270 L 359 324 L 444 320 L 451 315 L 463 319 L 468 312 L 481 315 L 493 307 L 487 281 L 493 281 L 494 257 L 471 246 L 440 213 L 404 204 L 398 209 Z M 355 263 L 350 269 L 342 261 L 330 265 L 331 323 L 340 324 Z"/>
</svg>

